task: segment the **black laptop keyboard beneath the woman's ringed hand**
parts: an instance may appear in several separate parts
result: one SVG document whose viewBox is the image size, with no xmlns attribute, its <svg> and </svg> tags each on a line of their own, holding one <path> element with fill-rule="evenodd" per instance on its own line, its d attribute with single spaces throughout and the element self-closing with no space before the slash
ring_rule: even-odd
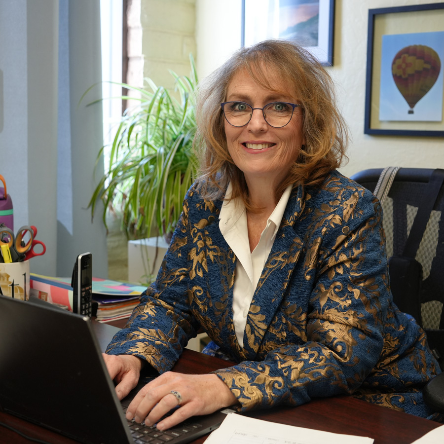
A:
<svg viewBox="0 0 444 444">
<path fill-rule="evenodd" d="M 126 403 L 122 404 L 123 412 L 126 413 L 126 408 L 128 406 L 125 405 Z M 128 403 L 129 404 L 129 403 Z M 160 430 L 157 430 L 155 426 L 148 427 L 145 424 L 138 424 L 134 420 L 127 420 L 128 426 L 131 430 L 131 435 L 134 439 L 135 444 L 175 444 L 179 442 L 186 442 L 186 435 L 195 431 L 196 429 L 202 428 L 202 425 L 198 422 L 190 421 L 184 421 L 181 424 L 172 427 L 171 429 L 164 430 L 161 432 Z M 194 434 L 193 438 L 195 436 Z M 185 439 L 185 440 L 184 440 Z"/>
</svg>

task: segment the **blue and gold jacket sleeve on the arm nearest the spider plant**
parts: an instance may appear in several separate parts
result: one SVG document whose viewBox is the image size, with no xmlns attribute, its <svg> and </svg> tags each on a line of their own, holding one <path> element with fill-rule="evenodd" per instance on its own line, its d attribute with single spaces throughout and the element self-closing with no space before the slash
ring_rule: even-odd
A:
<svg viewBox="0 0 444 444">
<path fill-rule="evenodd" d="M 188 210 L 193 187 L 185 196 L 184 208 L 162 261 L 155 283 L 141 295 L 127 325 L 113 337 L 108 354 L 132 354 L 163 373 L 171 370 L 198 325 L 189 310 L 187 242 Z"/>
</svg>

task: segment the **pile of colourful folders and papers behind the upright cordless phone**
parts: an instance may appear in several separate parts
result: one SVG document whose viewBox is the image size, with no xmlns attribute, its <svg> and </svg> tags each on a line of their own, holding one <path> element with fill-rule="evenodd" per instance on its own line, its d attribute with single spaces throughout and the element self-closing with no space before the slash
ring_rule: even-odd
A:
<svg viewBox="0 0 444 444">
<path fill-rule="evenodd" d="M 33 296 L 58 304 L 72 311 L 73 288 L 71 278 L 42 276 L 31 273 Z M 128 318 L 139 303 L 146 286 L 110 279 L 92 279 L 93 316 L 99 322 Z"/>
</svg>

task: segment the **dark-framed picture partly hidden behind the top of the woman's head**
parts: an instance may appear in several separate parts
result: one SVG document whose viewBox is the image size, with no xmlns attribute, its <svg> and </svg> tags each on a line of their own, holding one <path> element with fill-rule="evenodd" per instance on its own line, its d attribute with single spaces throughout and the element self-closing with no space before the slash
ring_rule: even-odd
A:
<svg viewBox="0 0 444 444">
<path fill-rule="evenodd" d="M 333 66 L 335 0 L 242 0 L 242 46 L 268 38 L 296 40 Z"/>
</svg>

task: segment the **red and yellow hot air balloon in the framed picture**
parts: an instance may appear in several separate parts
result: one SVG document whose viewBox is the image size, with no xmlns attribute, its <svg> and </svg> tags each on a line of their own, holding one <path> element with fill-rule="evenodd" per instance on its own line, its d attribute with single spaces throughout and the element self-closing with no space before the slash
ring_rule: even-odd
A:
<svg viewBox="0 0 444 444">
<path fill-rule="evenodd" d="M 440 69 L 440 58 L 429 46 L 410 45 L 396 54 L 392 62 L 393 79 L 410 107 L 409 114 L 413 114 L 413 107 L 435 84 Z"/>
</svg>

